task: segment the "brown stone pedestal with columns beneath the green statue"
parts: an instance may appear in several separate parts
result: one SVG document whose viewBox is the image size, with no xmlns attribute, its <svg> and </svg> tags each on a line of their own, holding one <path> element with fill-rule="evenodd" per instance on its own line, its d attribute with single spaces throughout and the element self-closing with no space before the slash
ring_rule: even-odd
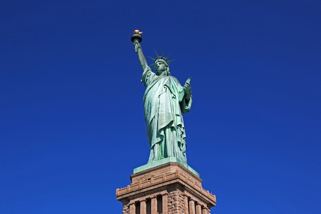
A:
<svg viewBox="0 0 321 214">
<path fill-rule="evenodd" d="M 123 214 L 210 214 L 216 204 L 202 179 L 176 162 L 136 172 L 130 179 L 130 185 L 116 189 Z"/>
</svg>

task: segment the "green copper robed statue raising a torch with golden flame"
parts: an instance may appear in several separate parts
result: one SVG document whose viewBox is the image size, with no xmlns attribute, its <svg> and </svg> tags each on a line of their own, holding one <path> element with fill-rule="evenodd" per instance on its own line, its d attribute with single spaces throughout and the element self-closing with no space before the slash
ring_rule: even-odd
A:
<svg viewBox="0 0 321 214">
<path fill-rule="evenodd" d="M 175 157 L 187 164 L 186 134 L 182 113 L 188 113 L 192 105 L 190 78 L 182 87 L 169 70 L 168 57 L 158 56 L 154 60 L 155 73 L 148 66 L 143 54 L 142 32 L 135 30 L 131 37 L 138 54 L 143 74 L 141 82 L 144 94 L 144 112 L 150 145 L 148 163 Z M 156 51 L 155 51 L 156 52 Z"/>
</svg>

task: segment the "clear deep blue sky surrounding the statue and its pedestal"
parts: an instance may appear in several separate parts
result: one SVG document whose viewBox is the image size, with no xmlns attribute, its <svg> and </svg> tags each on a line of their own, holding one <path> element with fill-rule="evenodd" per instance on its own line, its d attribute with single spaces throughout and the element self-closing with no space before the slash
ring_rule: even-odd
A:
<svg viewBox="0 0 321 214">
<path fill-rule="evenodd" d="M 321 3 L 154 2 L 1 1 L 0 213 L 122 212 L 149 154 L 137 28 L 192 77 L 211 212 L 321 213 Z"/>
</svg>

